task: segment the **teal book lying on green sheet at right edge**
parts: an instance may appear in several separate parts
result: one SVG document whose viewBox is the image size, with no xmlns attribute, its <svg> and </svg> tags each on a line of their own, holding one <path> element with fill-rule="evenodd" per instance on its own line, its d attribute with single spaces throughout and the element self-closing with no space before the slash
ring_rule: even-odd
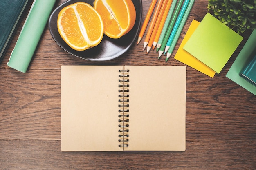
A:
<svg viewBox="0 0 256 170">
<path fill-rule="evenodd" d="M 255 51 L 255 50 L 254 50 Z M 240 76 L 256 86 L 256 53 L 240 72 Z"/>
</svg>

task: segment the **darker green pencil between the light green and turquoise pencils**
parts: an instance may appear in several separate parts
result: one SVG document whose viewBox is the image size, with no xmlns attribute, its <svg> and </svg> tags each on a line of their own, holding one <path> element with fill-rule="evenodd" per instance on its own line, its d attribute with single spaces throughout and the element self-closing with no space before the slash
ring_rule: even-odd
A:
<svg viewBox="0 0 256 170">
<path fill-rule="evenodd" d="M 169 37 L 171 35 L 171 31 L 172 31 L 173 26 L 175 24 L 176 18 L 178 16 L 179 12 L 180 12 L 180 8 L 182 6 L 183 1 L 184 0 L 180 0 L 178 2 L 177 7 L 176 7 L 175 12 L 174 12 L 174 15 L 173 15 L 173 18 L 171 19 L 171 23 L 169 24 L 167 32 L 166 32 L 166 34 L 164 36 L 164 40 L 163 40 L 161 46 L 159 48 L 157 48 L 157 51 L 160 49 L 159 55 L 158 55 L 158 59 L 161 57 L 162 53 L 164 53 L 164 49 L 165 49 L 166 43 L 167 43 L 167 41 L 168 41 L 168 39 L 169 39 Z"/>
</svg>

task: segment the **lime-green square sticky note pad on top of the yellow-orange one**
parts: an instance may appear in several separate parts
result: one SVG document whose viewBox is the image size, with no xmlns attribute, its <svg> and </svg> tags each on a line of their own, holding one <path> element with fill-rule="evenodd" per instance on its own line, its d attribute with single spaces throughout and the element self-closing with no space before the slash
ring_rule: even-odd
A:
<svg viewBox="0 0 256 170">
<path fill-rule="evenodd" d="M 183 49 L 220 73 L 243 37 L 207 13 Z"/>
</svg>

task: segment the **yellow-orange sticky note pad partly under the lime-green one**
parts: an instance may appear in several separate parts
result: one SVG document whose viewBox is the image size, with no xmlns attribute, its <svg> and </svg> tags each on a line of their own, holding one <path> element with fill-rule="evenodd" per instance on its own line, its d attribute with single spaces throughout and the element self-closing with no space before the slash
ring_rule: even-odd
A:
<svg viewBox="0 0 256 170">
<path fill-rule="evenodd" d="M 186 32 L 186 35 L 184 36 L 182 43 L 180 44 L 180 47 L 177 51 L 177 53 L 174 56 L 174 59 L 188 65 L 191 66 L 192 68 L 210 76 L 210 77 L 214 77 L 215 75 L 215 71 L 213 71 L 211 68 L 209 68 L 207 65 L 205 65 L 204 63 L 202 63 L 200 60 L 198 60 L 197 58 L 195 58 L 193 55 L 191 55 L 190 53 L 188 53 L 187 51 L 185 51 L 183 49 L 184 45 L 186 44 L 186 42 L 189 40 L 189 38 L 191 37 L 191 35 L 194 33 L 194 31 L 197 29 L 198 25 L 200 24 L 200 22 L 196 21 L 196 20 L 192 20 L 188 31 Z"/>
</svg>

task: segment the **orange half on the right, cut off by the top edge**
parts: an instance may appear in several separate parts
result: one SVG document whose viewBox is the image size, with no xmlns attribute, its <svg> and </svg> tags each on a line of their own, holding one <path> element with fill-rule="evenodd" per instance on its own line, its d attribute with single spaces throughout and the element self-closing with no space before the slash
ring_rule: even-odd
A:
<svg viewBox="0 0 256 170">
<path fill-rule="evenodd" d="M 131 0 L 95 0 L 94 8 L 101 15 L 104 33 L 110 38 L 120 38 L 135 24 L 136 11 Z"/>
</svg>

